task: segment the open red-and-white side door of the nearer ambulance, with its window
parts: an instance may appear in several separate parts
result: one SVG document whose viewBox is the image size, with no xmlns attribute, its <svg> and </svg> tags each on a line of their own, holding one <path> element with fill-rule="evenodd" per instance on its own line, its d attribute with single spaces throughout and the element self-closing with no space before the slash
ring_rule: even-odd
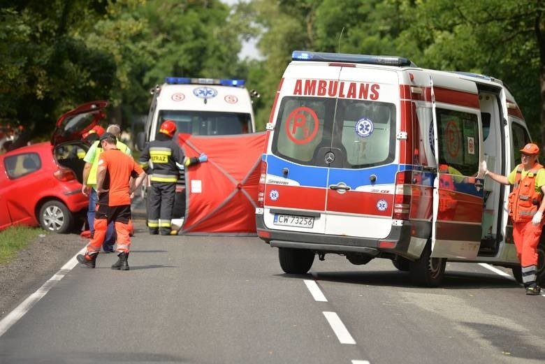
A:
<svg viewBox="0 0 545 364">
<path fill-rule="evenodd" d="M 432 74 L 434 181 L 432 256 L 474 259 L 481 244 L 484 181 L 477 85 L 453 75 Z"/>
</svg>

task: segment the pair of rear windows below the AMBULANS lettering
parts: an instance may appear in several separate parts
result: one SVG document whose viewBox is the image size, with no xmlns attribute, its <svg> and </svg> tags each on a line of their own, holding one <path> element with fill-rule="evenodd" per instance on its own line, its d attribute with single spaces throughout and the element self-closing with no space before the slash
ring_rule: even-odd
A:
<svg viewBox="0 0 545 364">
<path fill-rule="evenodd" d="M 379 166 L 394 158 L 395 105 L 285 97 L 276 130 L 273 153 L 296 163 L 339 168 Z"/>
</svg>

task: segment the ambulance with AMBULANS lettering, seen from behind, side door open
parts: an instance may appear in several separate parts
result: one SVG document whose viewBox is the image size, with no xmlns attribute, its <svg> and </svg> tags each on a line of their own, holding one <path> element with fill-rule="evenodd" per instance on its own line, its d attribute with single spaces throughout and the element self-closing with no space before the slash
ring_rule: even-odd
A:
<svg viewBox="0 0 545 364">
<path fill-rule="evenodd" d="M 256 228 L 284 272 L 340 254 L 391 259 L 420 286 L 438 286 L 446 261 L 508 267 L 522 281 L 509 187 L 479 175 L 480 161 L 507 175 L 530 142 L 502 81 L 294 51 L 266 129 Z"/>
</svg>

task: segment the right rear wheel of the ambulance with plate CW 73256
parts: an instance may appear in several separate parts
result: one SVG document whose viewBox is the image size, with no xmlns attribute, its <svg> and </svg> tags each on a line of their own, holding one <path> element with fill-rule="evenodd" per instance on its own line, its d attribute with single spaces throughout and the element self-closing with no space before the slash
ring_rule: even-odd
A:
<svg viewBox="0 0 545 364">
<path fill-rule="evenodd" d="M 431 244 L 428 242 L 421 256 L 411 262 L 411 280 L 416 286 L 437 287 L 444 276 L 446 259 L 431 257 Z"/>
</svg>

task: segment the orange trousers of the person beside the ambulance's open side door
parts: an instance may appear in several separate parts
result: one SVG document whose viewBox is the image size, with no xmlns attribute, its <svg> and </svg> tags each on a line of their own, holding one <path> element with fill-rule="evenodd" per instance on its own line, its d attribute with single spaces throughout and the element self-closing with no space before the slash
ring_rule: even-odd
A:
<svg viewBox="0 0 545 364">
<path fill-rule="evenodd" d="M 513 224 L 516 255 L 523 267 L 537 265 L 537 245 L 539 245 L 539 238 L 542 235 L 543 224 L 542 222 L 534 226 L 532 220 Z"/>
</svg>

